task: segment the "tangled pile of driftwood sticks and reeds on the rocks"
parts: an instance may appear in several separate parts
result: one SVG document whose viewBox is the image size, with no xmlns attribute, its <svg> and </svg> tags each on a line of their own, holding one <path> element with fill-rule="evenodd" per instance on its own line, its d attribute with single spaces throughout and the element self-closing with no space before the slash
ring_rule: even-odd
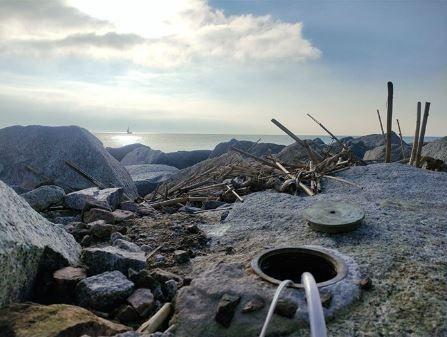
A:
<svg viewBox="0 0 447 337">
<path fill-rule="evenodd" d="M 309 160 L 296 165 L 281 163 L 273 156 L 258 157 L 232 147 L 239 160 L 214 165 L 200 173 L 188 175 L 187 178 L 170 184 L 159 186 L 145 199 L 154 208 L 182 207 L 185 204 L 196 205 L 210 200 L 225 202 L 243 202 L 244 195 L 266 189 L 294 195 L 313 196 L 321 191 L 323 178 L 337 180 L 343 183 L 361 186 L 335 177 L 332 174 L 345 170 L 353 165 L 364 164 L 355 158 L 352 151 L 338 140 L 321 123 L 309 115 L 331 137 L 341 145 L 339 153 L 332 153 L 331 147 L 324 153 L 310 148 L 307 142 L 298 138 L 284 125 L 275 119 L 272 122 L 303 146 Z M 338 147 L 340 148 L 340 147 Z M 242 158 L 241 158 L 242 157 Z M 229 157 L 231 158 L 231 157 Z"/>
</svg>

